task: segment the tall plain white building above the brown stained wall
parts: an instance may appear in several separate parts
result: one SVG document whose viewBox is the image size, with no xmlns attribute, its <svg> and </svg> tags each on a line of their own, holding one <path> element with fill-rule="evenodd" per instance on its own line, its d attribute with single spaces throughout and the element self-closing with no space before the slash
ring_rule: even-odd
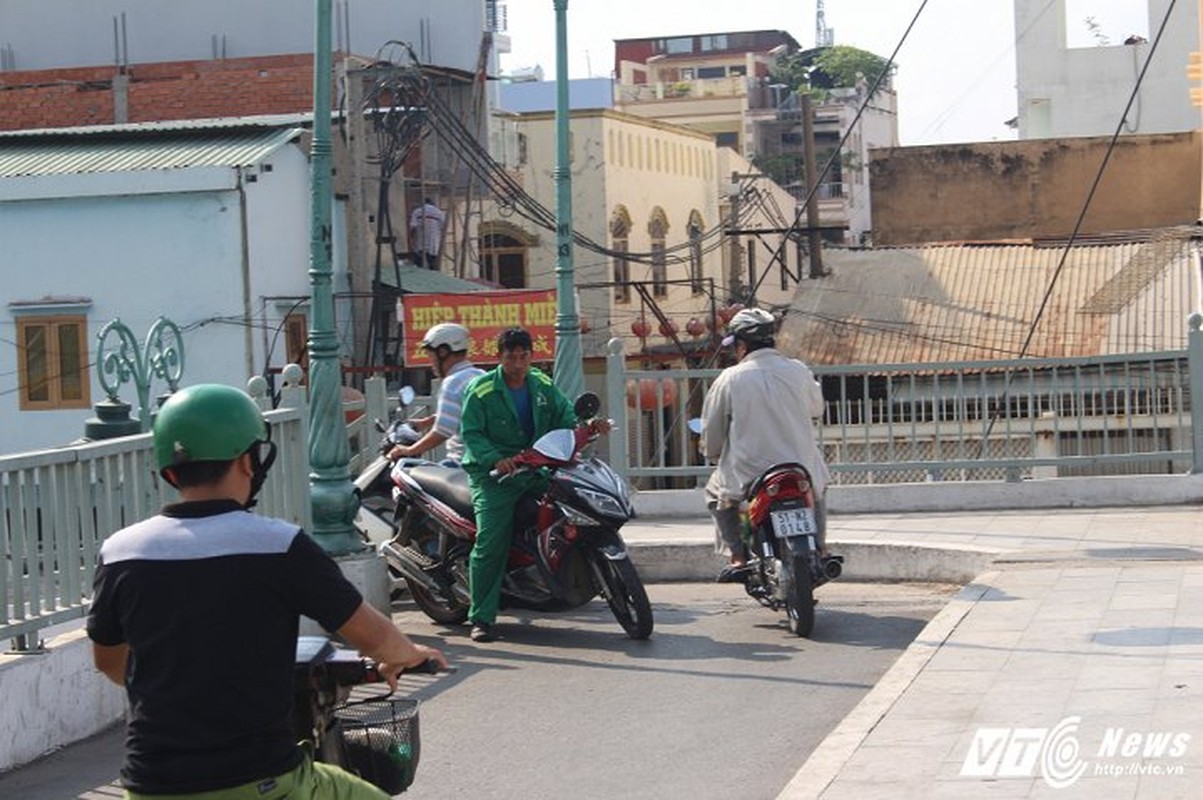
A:
<svg viewBox="0 0 1203 800">
<path fill-rule="evenodd" d="M 1110 136 L 1121 119 L 1124 134 L 1171 134 L 1199 126 L 1186 77 L 1190 53 L 1199 48 L 1197 4 L 1173 4 L 1126 119 L 1124 109 L 1171 0 L 1142 2 L 1149 12 L 1148 37 L 1091 47 L 1069 47 L 1067 5 L 1067 0 L 1015 0 L 1020 138 Z"/>
</svg>

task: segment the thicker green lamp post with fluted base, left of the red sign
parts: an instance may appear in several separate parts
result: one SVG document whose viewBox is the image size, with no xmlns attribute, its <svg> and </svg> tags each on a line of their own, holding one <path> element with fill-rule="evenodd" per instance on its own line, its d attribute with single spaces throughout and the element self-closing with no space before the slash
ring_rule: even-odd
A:
<svg viewBox="0 0 1203 800">
<path fill-rule="evenodd" d="M 348 462 L 351 449 L 343 422 L 342 367 L 334 333 L 334 292 L 331 267 L 331 188 L 333 158 L 330 142 L 331 0 L 315 0 L 313 51 L 313 143 L 309 192 L 309 503 L 313 538 L 332 556 L 363 549 L 355 532 L 358 498 Z"/>
</svg>

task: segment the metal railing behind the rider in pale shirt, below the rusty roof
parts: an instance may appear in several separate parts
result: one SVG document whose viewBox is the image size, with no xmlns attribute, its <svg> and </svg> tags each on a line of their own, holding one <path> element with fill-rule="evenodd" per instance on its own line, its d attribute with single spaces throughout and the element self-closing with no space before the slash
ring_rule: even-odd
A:
<svg viewBox="0 0 1203 800">
<path fill-rule="evenodd" d="M 817 437 L 835 485 L 1190 472 L 1199 351 L 1192 321 L 1189 351 L 818 367 Z M 628 369 L 611 342 L 608 409 L 627 432 L 610 437 L 616 469 L 642 488 L 709 476 L 686 421 L 718 373 Z"/>
</svg>

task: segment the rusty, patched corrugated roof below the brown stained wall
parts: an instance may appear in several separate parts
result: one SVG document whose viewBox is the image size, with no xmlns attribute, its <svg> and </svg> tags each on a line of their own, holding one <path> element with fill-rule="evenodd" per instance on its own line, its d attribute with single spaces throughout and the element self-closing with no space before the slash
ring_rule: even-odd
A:
<svg viewBox="0 0 1203 800">
<path fill-rule="evenodd" d="M 1183 229 L 1068 253 L 934 245 L 823 260 L 831 274 L 799 285 L 781 336 L 816 365 L 1006 360 L 1030 334 L 1031 357 L 1178 350 L 1199 297 L 1198 244 Z"/>
</svg>

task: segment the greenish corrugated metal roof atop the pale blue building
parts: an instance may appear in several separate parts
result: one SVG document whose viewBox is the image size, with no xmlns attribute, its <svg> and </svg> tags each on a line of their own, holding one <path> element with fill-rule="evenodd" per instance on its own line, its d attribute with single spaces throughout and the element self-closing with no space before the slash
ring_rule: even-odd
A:
<svg viewBox="0 0 1203 800">
<path fill-rule="evenodd" d="M 250 166 L 301 132 L 300 128 L 113 126 L 89 134 L 0 137 L 0 178 Z"/>
</svg>

